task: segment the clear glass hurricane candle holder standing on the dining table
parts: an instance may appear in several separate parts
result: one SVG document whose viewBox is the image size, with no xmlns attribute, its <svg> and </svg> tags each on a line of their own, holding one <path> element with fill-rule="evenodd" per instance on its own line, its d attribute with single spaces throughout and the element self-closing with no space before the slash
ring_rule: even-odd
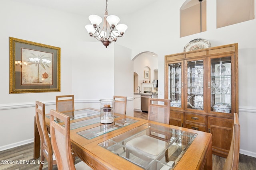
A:
<svg viewBox="0 0 256 170">
<path fill-rule="evenodd" d="M 113 123 L 114 104 L 113 99 L 100 99 L 100 123 Z"/>
</svg>

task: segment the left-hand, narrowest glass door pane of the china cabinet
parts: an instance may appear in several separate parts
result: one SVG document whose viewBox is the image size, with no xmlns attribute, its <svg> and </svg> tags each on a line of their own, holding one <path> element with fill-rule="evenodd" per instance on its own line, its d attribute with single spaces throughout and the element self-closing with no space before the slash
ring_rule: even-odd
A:
<svg viewBox="0 0 256 170">
<path fill-rule="evenodd" d="M 168 99 L 171 107 L 182 107 L 182 64 L 168 65 Z"/>
</svg>

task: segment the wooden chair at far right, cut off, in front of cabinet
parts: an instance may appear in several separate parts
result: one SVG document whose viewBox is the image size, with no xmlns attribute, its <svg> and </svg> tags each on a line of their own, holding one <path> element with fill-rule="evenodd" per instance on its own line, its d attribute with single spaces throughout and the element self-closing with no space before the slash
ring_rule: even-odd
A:
<svg viewBox="0 0 256 170">
<path fill-rule="evenodd" d="M 240 150 L 240 123 L 238 114 L 234 113 L 234 127 L 232 141 L 228 152 L 228 157 L 223 166 L 223 170 L 238 170 L 239 162 L 239 150 Z"/>
</svg>

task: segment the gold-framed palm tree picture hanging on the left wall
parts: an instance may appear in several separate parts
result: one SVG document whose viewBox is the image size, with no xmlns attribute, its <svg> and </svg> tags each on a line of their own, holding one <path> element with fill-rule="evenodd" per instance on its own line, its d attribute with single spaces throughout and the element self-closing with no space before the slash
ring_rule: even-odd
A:
<svg viewBox="0 0 256 170">
<path fill-rule="evenodd" d="M 60 92 L 60 48 L 10 37 L 10 94 Z"/>
</svg>

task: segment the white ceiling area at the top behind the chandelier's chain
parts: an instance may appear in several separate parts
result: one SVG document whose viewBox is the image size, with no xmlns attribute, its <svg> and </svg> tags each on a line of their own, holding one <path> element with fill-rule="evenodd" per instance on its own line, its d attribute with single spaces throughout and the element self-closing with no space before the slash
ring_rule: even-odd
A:
<svg viewBox="0 0 256 170">
<path fill-rule="evenodd" d="M 63 10 L 89 16 L 96 14 L 102 17 L 106 8 L 106 0 L 12 0 L 56 10 Z M 109 15 L 125 15 L 138 11 L 156 0 L 108 0 Z"/>
</svg>

